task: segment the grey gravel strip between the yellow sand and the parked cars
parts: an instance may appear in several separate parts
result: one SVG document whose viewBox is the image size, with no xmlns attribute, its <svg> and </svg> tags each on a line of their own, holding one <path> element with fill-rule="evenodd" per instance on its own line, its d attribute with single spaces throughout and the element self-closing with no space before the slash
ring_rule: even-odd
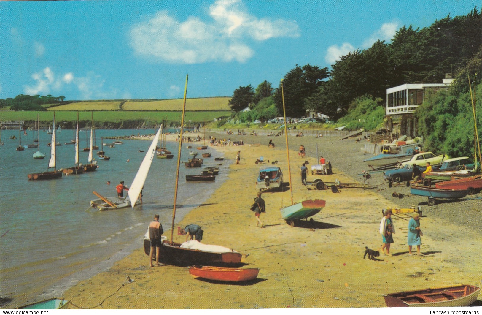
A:
<svg viewBox="0 0 482 315">
<path fill-rule="evenodd" d="M 272 139 L 276 147 L 285 146 L 285 137 L 267 137 L 267 136 L 238 136 L 227 134 L 206 133 L 207 136 L 217 138 L 230 138 L 231 141 L 243 140 L 244 144 L 261 143 L 266 145 L 268 150 L 268 141 Z M 330 161 L 334 168 L 334 173 L 340 171 L 349 177 L 363 183 L 362 171 L 369 170 L 364 159 L 373 156 L 371 153 L 364 153 L 363 147 L 365 141 L 356 142 L 356 138 L 339 140 L 339 137 L 288 137 L 290 149 L 297 151 L 300 145 L 304 145 L 306 154 L 316 157 L 316 145 L 318 144 L 318 155 L 323 156 Z M 473 231 L 482 231 L 482 193 L 475 195 L 467 195 L 461 199 L 438 199 L 436 205 L 428 205 L 427 197 L 416 196 L 410 194 L 410 187 L 402 185 L 393 185 L 388 188 L 388 182 L 383 179 L 383 172 L 372 173 L 372 178 L 367 180 L 367 184 L 377 186 L 376 192 L 388 200 L 393 201 L 403 208 L 413 205 L 422 207 L 423 216 L 441 218 L 455 225 L 468 227 Z M 310 178 L 311 177 L 311 178 Z M 323 179 L 322 175 L 316 176 Z M 308 180 L 313 177 L 309 174 Z M 392 193 L 402 193 L 403 198 L 393 197 Z M 396 200 L 394 200 L 396 198 Z M 478 199 L 476 199 L 478 198 Z M 381 209 L 380 209 L 381 210 Z"/>
</svg>

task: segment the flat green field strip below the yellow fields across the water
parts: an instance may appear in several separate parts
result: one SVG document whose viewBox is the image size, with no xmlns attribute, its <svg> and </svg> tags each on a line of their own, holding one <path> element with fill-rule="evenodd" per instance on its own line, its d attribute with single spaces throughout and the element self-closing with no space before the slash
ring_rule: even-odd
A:
<svg viewBox="0 0 482 315">
<path fill-rule="evenodd" d="M 54 117 L 52 111 L 0 111 L 0 121 L 37 120 L 37 114 L 40 114 L 40 121 L 50 121 Z M 160 123 L 163 119 L 168 121 L 181 121 L 181 114 L 180 111 L 105 110 L 94 111 L 94 121 L 121 122 L 123 120 L 146 120 Z M 214 118 L 230 115 L 230 110 L 186 111 L 185 122 L 210 122 L 214 121 Z M 77 120 L 77 111 L 56 111 L 55 118 L 59 122 L 75 121 Z M 90 120 L 91 112 L 79 111 L 79 119 Z"/>
</svg>

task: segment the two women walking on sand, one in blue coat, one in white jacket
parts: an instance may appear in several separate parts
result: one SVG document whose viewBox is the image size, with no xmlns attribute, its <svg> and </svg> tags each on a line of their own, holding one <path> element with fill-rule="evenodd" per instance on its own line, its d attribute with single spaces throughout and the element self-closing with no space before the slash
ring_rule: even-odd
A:
<svg viewBox="0 0 482 315">
<path fill-rule="evenodd" d="M 393 212 L 388 209 L 385 211 L 382 220 L 380 221 L 379 232 L 382 234 L 382 246 L 379 251 L 386 256 L 392 256 L 390 254 L 390 245 L 393 243 L 393 234 L 395 234 L 395 225 L 392 219 Z M 423 236 L 422 230 L 420 229 L 420 214 L 415 212 L 414 216 L 408 221 L 408 255 L 412 256 L 412 247 L 417 247 L 417 255 L 423 256 L 420 252 L 420 246 L 422 245 L 422 240 L 420 236 Z M 385 251 L 386 250 L 386 251 Z"/>
</svg>

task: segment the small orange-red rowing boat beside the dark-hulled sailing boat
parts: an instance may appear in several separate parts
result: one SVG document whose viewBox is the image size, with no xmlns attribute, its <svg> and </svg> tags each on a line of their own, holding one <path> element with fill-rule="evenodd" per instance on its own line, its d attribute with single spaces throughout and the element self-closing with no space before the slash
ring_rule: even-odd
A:
<svg viewBox="0 0 482 315">
<path fill-rule="evenodd" d="M 217 281 L 241 282 L 254 280 L 258 276 L 259 268 L 227 268 L 213 266 L 190 266 L 189 274 Z"/>
</svg>

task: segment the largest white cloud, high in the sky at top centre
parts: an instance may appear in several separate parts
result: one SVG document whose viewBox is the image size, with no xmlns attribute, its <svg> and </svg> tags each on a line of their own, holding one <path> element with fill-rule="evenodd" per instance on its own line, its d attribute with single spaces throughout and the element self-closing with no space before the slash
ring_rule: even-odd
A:
<svg viewBox="0 0 482 315">
<path fill-rule="evenodd" d="M 178 21 L 160 11 L 132 27 L 131 46 L 138 55 L 171 63 L 244 62 L 254 55 L 249 41 L 299 36 L 295 22 L 258 19 L 244 9 L 241 0 L 217 0 L 204 20 L 190 16 Z"/>
</svg>

